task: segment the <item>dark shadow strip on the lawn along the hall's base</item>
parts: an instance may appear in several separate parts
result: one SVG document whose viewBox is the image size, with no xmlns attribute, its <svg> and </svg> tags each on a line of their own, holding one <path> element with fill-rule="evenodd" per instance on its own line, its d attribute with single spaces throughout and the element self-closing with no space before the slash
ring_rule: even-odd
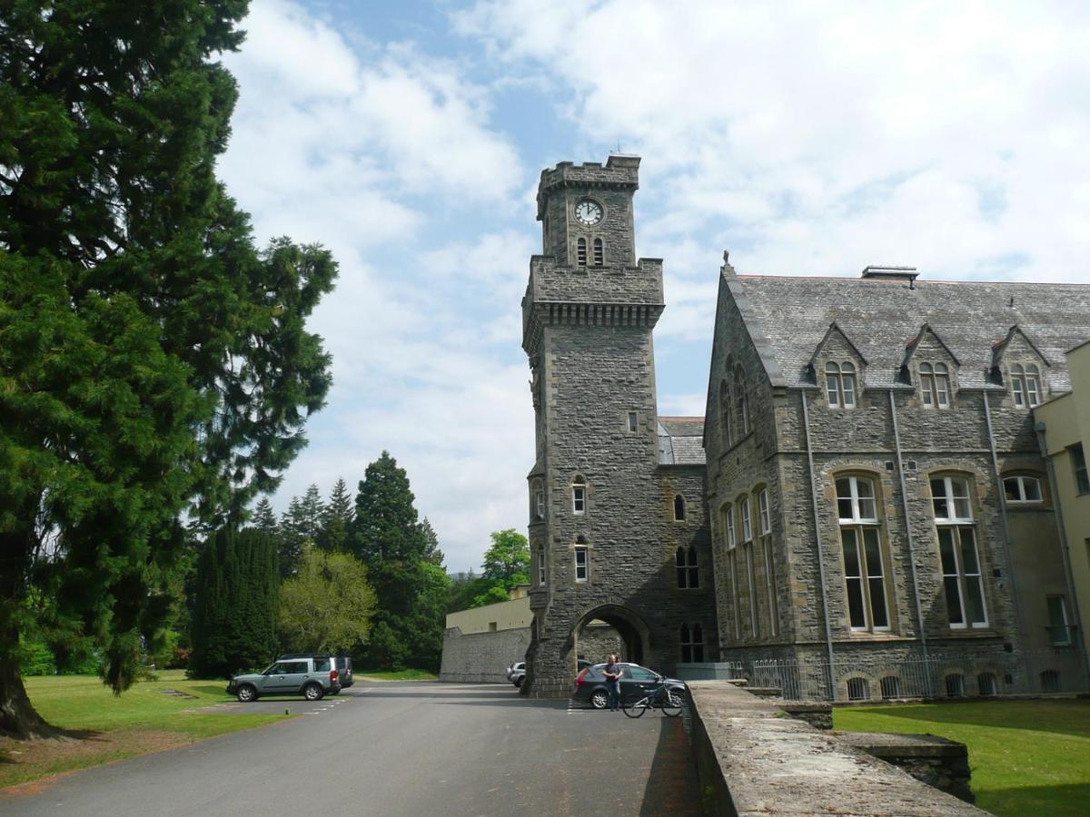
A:
<svg viewBox="0 0 1090 817">
<path fill-rule="evenodd" d="M 865 712 L 868 716 L 904 718 L 933 724 L 965 723 L 977 727 L 1028 729 L 1034 732 L 1090 737 L 1090 699 L 1083 698 L 889 705 L 865 707 L 859 711 Z M 868 729 L 873 729 L 876 725 L 872 724 Z"/>
</svg>

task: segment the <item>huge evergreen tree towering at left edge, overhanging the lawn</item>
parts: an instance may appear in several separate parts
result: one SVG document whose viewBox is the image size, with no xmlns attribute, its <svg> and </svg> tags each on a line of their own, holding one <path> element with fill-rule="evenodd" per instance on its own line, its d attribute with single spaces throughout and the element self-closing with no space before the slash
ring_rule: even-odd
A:
<svg viewBox="0 0 1090 817">
<path fill-rule="evenodd" d="M 31 587 L 132 683 L 189 519 L 241 519 L 329 387 L 305 319 L 336 266 L 254 247 L 215 178 L 245 0 L 0 7 L 0 731 Z"/>
</svg>

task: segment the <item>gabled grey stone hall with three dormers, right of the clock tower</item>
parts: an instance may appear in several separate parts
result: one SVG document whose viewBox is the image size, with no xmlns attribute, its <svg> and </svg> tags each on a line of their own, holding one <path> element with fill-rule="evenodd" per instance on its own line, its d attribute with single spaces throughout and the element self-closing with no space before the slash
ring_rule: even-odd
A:
<svg viewBox="0 0 1090 817">
<path fill-rule="evenodd" d="M 704 435 L 724 660 L 796 662 L 776 681 L 838 699 L 1085 688 L 1050 631 L 1074 594 L 1032 410 L 1088 338 L 1086 285 L 725 264 Z"/>
</svg>

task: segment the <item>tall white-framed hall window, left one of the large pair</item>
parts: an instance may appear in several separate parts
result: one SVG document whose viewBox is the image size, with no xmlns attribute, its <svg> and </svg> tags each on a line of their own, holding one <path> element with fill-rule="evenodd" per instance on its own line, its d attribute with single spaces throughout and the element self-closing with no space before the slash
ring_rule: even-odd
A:
<svg viewBox="0 0 1090 817">
<path fill-rule="evenodd" d="M 844 550 L 848 623 L 856 631 L 889 630 L 874 483 L 857 476 L 837 478 L 836 508 Z"/>
</svg>

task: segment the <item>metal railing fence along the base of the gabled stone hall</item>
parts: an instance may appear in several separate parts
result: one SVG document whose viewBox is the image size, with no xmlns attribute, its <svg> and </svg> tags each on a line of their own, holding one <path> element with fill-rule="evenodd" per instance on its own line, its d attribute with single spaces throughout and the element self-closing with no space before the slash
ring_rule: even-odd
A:
<svg viewBox="0 0 1090 817">
<path fill-rule="evenodd" d="M 746 679 L 749 687 L 778 690 L 787 700 L 960 698 L 1088 691 L 1086 664 L 1075 650 L 992 656 L 932 654 L 901 659 L 853 655 L 834 658 L 832 664 L 826 658 L 759 658 L 722 661 L 715 667 L 717 678 Z"/>
</svg>

